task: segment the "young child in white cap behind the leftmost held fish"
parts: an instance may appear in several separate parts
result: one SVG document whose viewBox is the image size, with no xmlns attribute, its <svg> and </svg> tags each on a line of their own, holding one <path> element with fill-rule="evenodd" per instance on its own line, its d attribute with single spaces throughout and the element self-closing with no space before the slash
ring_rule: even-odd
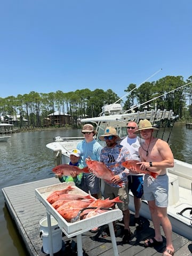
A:
<svg viewBox="0 0 192 256">
<path fill-rule="evenodd" d="M 69 165 L 74 165 L 81 168 L 81 165 L 79 163 L 80 159 L 81 159 L 81 152 L 76 148 L 71 150 Z M 61 182 L 73 181 L 75 182 L 75 185 L 77 187 L 80 187 L 82 176 L 83 176 L 83 173 L 77 174 L 76 172 L 71 172 L 71 176 L 58 175 L 58 178 Z"/>
</svg>

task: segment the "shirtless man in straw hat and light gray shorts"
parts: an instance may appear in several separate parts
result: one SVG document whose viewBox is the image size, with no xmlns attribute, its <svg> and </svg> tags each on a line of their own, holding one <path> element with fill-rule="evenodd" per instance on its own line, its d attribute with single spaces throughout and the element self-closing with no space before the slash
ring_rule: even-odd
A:
<svg viewBox="0 0 192 256">
<path fill-rule="evenodd" d="M 143 183 L 144 196 L 148 201 L 155 229 L 155 237 L 147 239 L 145 246 L 151 247 L 163 243 L 160 229 L 162 225 L 166 237 L 166 249 L 162 256 L 173 256 L 172 226 L 167 216 L 169 181 L 166 168 L 174 166 L 174 157 L 168 143 L 153 136 L 155 130 L 158 129 L 145 119 L 139 122 L 139 129 L 135 131 L 145 140 L 139 148 L 140 169 L 159 174 L 156 179 L 146 174 Z"/>
</svg>

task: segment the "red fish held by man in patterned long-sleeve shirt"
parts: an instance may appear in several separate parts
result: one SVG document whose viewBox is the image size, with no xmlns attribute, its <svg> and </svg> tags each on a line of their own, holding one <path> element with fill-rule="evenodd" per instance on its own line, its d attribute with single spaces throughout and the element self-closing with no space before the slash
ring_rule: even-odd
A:
<svg viewBox="0 0 192 256">
<path fill-rule="evenodd" d="M 111 179 L 114 177 L 114 173 L 107 168 L 107 166 L 104 163 L 94 161 L 94 160 L 87 160 L 86 161 L 87 166 L 89 167 L 90 171 L 95 174 L 100 179 L 105 180 L 107 183 L 111 184 L 113 183 Z M 122 181 L 119 181 L 118 184 L 120 187 L 122 187 Z"/>
</svg>

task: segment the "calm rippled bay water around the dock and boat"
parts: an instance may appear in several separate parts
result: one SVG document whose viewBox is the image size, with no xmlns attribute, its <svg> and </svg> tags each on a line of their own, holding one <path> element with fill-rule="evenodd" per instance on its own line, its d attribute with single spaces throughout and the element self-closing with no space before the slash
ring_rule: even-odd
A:
<svg viewBox="0 0 192 256">
<path fill-rule="evenodd" d="M 171 137 L 170 137 L 171 132 Z M 0 143 L 0 188 L 20 183 L 53 177 L 53 151 L 46 144 L 53 141 L 55 136 L 81 136 L 81 130 L 51 130 L 11 134 L 7 142 Z M 164 140 L 169 137 L 169 143 L 174 158 L 192 164 L 192 129 L 176 123 L 173 129 L 162 128 L 157 136 Z M 0 193 L 0 255 L 26 256 L 17 229 L 5 207 L 3 194 Z"/>
</svg>

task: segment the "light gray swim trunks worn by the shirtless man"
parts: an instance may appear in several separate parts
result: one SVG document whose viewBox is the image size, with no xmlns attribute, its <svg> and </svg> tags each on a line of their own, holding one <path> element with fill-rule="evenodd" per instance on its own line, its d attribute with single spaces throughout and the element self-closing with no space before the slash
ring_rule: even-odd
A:
<svg viewBox="0 0 192 256">
<path fill-rule="evenodd" d="M 147 201 L 154 201 L 158 207 L 168 206 L 169 179 L 167 174 L 159 175 L 156 179 L 146 174 L 143 181 L 144 197 Z"/>
</svg>

